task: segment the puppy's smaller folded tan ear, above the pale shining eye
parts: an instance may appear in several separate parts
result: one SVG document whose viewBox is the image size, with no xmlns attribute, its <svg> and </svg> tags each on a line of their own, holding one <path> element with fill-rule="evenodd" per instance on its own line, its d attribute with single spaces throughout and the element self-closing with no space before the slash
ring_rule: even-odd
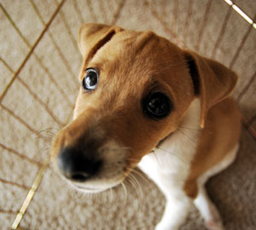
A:
<svg viewBox="0 0 256 230">
<path fill-rule="evenodd" d="M 79 28 L 79 49 L 84 56 L 85 63 L 96 54 L 98 49 L 114 36 L 115 33 L 123 31 L 118 26 L 107 26 L 103 24 L 84 24 Z"/>
</svg>

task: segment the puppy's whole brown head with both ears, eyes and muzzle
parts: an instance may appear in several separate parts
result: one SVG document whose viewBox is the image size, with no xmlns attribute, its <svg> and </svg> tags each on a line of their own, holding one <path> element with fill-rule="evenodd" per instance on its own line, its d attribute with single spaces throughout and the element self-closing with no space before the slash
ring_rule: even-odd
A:
<svg viewBox="0 0 256 230">
<path fill-rule="evenodd" d="M 223 77 L 224 66 L 153 32 L 87 24 L 79 48 L 84 63 L 73 122 L 56 135 L 51 156 L 61 175 L 87 193 L 123 181 L 178 128 L 195 97 L 203 126 L 207 109 L 236 83 L 233 73 Z M 217 89 L 208 89 L 212 83 Z"/>
</svg>

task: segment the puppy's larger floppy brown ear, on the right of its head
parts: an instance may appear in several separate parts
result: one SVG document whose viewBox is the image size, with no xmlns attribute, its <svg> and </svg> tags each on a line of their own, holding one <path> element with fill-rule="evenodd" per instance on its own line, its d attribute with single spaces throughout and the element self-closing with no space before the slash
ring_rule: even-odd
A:
<svg viewBox="0 0 256 230">
<path fill-rule="evenodd" d="M 207 111 L 230 95 L 236 86 L 237 76 L 227 67 L 194 52 L 185 51 L 185 59 L 194 83 L 195 95 L 201 100 L 201 128 Z"/>
</svg>

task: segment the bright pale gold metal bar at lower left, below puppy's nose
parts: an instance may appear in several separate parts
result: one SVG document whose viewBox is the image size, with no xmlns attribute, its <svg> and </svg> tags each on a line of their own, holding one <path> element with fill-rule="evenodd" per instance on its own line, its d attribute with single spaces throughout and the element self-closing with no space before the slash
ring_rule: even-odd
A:
<svg viewBox="0 0 256 230">
<path fill-rule="evenodd" d="M 43 179 L 44 171 L 47 169 L 48 164 L 49 164 L 49 158 L 47 158 L 45 160 L 43 166 L 41 167 L 41 169 L 38 172 L 38 175 L 37 175 L 35 181 L 32 183 L 32 187 L 29 190 L 29 192 L 27 193 L 24 203 L 21 205 L 20 212 L 16 216 L 15 221 L 12 225 L 12 228 L 11 228 L 12 230 L 16 230 L 17 227 L 19 227 L 20 221 L 23 218 L 23 216 L 25 215 L 26 209 L 27 209 L 28 205 L 31 203 L 32 198 L 33 198 L 34 194 L 36 193 L 40 182 Z"/>
</svg>

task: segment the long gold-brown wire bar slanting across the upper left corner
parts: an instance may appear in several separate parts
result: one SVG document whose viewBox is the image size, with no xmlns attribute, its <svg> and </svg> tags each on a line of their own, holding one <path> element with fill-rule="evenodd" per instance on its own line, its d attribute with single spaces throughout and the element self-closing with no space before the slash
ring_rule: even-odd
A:
<svg viewBox="0 0 256 230">
<path fill-rule="evenodd" d="M 65 2 L 66 0 L 62 0 L 60 5 L 57 7 L 57 9 L 55 10 L 55 13 L 52 15 L 51 19 L 49 20 L 49 22 L 47 23 L 47 25 L 44 27 L 44 30 L 41 32 L 41 34 L 39 35 L 37 41 L 32 45 L 32 48 L 30 49 L 30 51 L 28 52 L 28 54 L 26 55 L 26 58 L 22 61 L 22 63 L 20 64 L 20 67 L 18 68 L 18 70 L 15 72 L 14 76 L 12 77 L 12 79 L 9 81 L 7 87 L 3 90 L 3 94 L 0 96 L 0 101 L 3 101 L 3 97 L 6 95 L 7 91 L 9 90 L 9 88 L 11 87 L 11 85 L 14 83 L 15 79 L 18 77 L 20 71 L 22 70 L 22 68 L 25 66 L 26 61 L 30 58 L 30 56 L 33 54 L 34 49 L 38 46 L 38 43 L 41 41 L 42 37 L 44 36 L 44 33 L 48 30 L 49 25 L 52 23 L 52 21 L 55 19 L 56 14 L 59 12 L 59 10 L 61 9 L 62 4 Z M 0 7 L 1 9 L 3 9 L 2 4 L 0 3 Z M 5 10 L 5 9 L 3 9 Z M 9 14 L 7 14 L 8 16 Z M 1 58 L 2 60 L 2 58 Z"/>
</svg>

